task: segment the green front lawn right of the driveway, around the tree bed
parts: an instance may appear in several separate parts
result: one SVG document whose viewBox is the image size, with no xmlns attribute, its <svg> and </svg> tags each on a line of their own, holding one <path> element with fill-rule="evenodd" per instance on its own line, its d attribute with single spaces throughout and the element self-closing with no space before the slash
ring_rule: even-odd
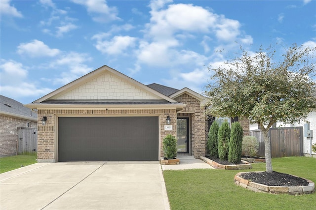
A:
<svg viewBox="0 0 316 210">
<path fill-rule="evenodd" d="M 284 157 L 272 160 L 273 170 L 316 182 L 316 158 Z M 251 170 L 193 169 L 163 171 L 171 210 L 307 210 L 316 208 L 316 193 L 293 196 L 256 193 L 237 186 L 241 171 L 265 171 L 265 163 Z"/>
</svg>

